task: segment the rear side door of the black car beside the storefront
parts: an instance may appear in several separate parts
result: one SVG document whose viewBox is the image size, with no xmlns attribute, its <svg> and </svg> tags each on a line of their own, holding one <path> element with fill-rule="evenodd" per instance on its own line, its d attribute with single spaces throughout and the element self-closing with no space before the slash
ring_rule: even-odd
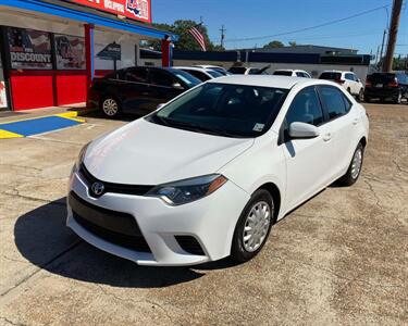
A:
<svg viewBox="0 0 408 326">
<path fill-rule="evenodd" d="M 124 78 L 126 83 L 121 89 L 121 92 L 124 95 L 123 111 L 139 114 L 146 113 L 149 104 L 147 68 L 127 68 Z"/>
</svg>

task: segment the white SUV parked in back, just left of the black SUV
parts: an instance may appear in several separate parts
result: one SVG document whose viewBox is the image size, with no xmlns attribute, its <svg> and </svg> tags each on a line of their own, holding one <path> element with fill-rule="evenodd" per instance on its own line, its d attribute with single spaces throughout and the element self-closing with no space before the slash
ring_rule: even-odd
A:
<svg viewBox="0 0 408 326">
<path fill-rule="evenodd" d="M 363 100 L 364 85 L 362 85 L 361 80 L 353 72 L 327 71 L 323 72 L 319 79 L 333 80 L 339 84 L 350 95 L 355 96 L 359 101 Z"/>
</svg>

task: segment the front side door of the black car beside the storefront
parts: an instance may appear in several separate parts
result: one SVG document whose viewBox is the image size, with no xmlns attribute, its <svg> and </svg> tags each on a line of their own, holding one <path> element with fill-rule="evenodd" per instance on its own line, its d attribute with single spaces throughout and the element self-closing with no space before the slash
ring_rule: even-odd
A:
<svg viewBox="0 0 408 326">
<path fill-rule="evenodd" d="M 184 83 L 173 74 L 159 68 L 150 68 L 150 106 L 156 110 L 157 105 L 165 103 L 187 89 Z"/>
</svg>

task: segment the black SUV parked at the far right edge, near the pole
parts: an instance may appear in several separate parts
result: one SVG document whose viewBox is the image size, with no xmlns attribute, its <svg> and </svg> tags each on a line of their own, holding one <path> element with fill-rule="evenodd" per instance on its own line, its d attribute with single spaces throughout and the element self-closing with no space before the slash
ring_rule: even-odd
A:
<svg viewBox="0 0 408 326">
<path fill-rule="evenodd" d="M 374 73 L 367 76 L 364 100 L 391 99 L 400 103 L 403 98 L 408 98 L 408 75 L 405 73 Z"/>
</svg>

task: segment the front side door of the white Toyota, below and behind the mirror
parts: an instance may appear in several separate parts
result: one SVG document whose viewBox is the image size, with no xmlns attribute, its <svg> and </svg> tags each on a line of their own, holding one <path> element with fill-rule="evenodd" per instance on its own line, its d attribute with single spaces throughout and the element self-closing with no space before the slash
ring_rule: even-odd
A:
<svg viewBox="0 0 408 326">
<path fill-rule="evenodd" d="M 290 139 L 292 123 L 302 122 L 319 128 L 320 135 L 311 139 Z M 294 98 L 281 129 L 281 145 L 287 168 L 286 198 L 293 209 L 326 186 L 332 165 L 331 129 L 314 86 L 300 90 Z"/>
</svg>

